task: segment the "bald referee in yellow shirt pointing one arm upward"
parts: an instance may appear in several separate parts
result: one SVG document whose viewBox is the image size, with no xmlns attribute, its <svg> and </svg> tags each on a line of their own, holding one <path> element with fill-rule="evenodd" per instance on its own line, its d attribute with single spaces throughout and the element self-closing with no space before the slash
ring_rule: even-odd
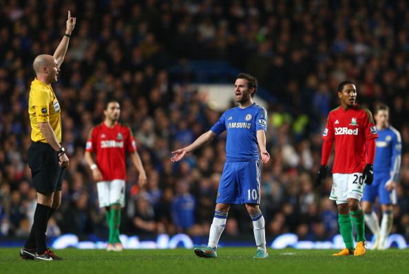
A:
<svg viewBox="0 0 409 274">
<path fill-rule="evenodd" d="M 42 54 L 33 63 L 36 78 L 31 83 L 28 101 L 33 143 L 28 149 L 28 165 L 37 191 L 37 205 L 30 235 L 20 250 L 23 259 L 61 260 L 45 244 L 48 219 L 61 204 L 63 169 L 69 165 L 61 145 L 61 108 L 51 84 L 57 81 L 75 22 L 69 10 L 67 28 L 54 56 Z"/>
</svg>

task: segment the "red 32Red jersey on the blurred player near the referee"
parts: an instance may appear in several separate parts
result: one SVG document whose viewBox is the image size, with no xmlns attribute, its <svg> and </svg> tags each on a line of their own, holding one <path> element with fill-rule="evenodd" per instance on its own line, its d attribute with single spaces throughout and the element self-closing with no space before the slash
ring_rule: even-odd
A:
<svg viewBox="0 0 409 274">
<path fill-rule="evenodd" d="M 110 128 L 101 123 L 92 128 L 85 151 L 94 152 L 103 180 L 126 180 L 125 152 L 136 151 L 129 127 L 116 123 Z"/>
</svg>

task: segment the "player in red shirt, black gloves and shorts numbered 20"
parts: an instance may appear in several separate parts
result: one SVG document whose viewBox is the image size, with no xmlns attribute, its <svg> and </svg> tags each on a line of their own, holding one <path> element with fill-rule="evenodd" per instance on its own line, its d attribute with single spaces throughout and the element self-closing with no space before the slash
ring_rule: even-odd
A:
<svg viewBox="0 0 409 274">
<path fill-rule="evenodd" d="M 357 88 L 351 81 L 338 86 L 341 105 L 328 114 L 323 134 L 321 167 L 315 187 L 326 177 L 328 158 L 335 143 L 333 187 L 330 199 L 338 209 L 339 232 L 346 248 L 334 256 L 364 255 L 366 252 L 365 223 L 359 202 L 365 185 L 373 181 L 375 138 L 378 137 L 370 111 L 357 105 Z M 357 232 L 354 249 L 353 223 Z"/>
</svg>

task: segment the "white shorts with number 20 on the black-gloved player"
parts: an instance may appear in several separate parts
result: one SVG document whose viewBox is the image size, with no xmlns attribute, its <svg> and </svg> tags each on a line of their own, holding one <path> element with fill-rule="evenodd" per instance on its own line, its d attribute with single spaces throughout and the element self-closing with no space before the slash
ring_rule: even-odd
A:
<svg viewBox="0 0 409 274">
<path fill-rule="evenodd" d="M 362 173 L 334 173 L 330 200 L 335 200 L 337 204 L 346 204 L 348 198 L 360 201 L 364 195 L 364 187 Z"/>
</svg>

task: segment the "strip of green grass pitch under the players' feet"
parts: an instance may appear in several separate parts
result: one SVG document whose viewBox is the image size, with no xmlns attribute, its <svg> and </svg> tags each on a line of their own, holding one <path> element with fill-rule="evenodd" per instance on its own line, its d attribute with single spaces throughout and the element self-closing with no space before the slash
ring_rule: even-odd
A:
<svg viewBox="0 0 409 274">
<path fill-rule="evenodd" d="M 334 250 L 269 249 L 266 260 L 253 248 L 220 248 L 217 259 L 196 257 L 189 249 L 57 250 L 63 261 L 21 260 L 19 249 L 0 249 L 0 273 L 409 273 L 409 249 L 368 251 L 361 257 L 332 257 Z"/>
</svg>

